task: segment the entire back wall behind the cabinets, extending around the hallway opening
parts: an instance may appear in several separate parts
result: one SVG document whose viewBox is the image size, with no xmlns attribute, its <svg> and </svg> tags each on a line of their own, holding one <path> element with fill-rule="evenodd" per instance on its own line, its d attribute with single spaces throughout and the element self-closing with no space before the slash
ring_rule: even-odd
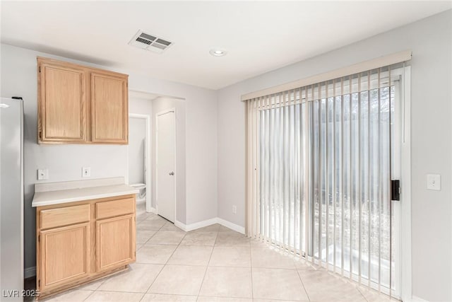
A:
<svg viewBox="0 0 452 302">
<path fill-rule="evenodd" d="M 88 55 L 88 54 L 87 54 Z M 153 54 L 150 54 L 153 55 Z M 127 146 L 38 145 L 36 56 L 62 59 L 20 47 L 1 45 L 0 95 L 21 96 L 25 111 L 25 268 L 35 266 L 35 209 L 31 207 L 37 168 L 49 169 L 49 182 L 81 179 L 81 167 L 91 167 L 92 178 L 126 175 Z M 110 66 L 97 66 L 128 74 Z M 186 203 L 198 211 L 186 216 L 194 223 L 217 216 L 217 103 L 216 92 L 181 83 L 130 74 L 129 89 L 186 100 Z"/>
</svg>

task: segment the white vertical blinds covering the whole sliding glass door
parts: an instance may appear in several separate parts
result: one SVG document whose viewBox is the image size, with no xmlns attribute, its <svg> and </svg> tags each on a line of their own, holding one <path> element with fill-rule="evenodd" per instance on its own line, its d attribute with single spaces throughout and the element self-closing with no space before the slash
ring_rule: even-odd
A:
<svg viewBox="0 0 452 302">
<path fill-rule="evenodd" d="M 246 233 L 391 294 L 400 65 L 247 100 Z"/>
</svg>

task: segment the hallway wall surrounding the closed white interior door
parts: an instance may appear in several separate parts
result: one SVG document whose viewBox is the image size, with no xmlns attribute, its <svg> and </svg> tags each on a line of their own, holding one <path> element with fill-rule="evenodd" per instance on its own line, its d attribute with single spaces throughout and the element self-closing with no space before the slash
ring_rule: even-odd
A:
<svg viewBox="0 0 452 302">
<path fill-rule="evenodd" d="M 182 223 L 186 223 L 187 209 L 186 204 L 186 117 L 185 117 L 185 100 L 177 98 L 160 97 L 153 100 L 153 117 L 152 117 L 152 171 L 153 171 L 153 207 L 156 204 L 155 190 L 157 180 L 156 167 L 156 129 L 157 129 L 157 115 L 165 110 L 175 109 L 176 112 L 176 220 Z M 216 211 L 216 209 L 215 209 Z"/>
</svg>

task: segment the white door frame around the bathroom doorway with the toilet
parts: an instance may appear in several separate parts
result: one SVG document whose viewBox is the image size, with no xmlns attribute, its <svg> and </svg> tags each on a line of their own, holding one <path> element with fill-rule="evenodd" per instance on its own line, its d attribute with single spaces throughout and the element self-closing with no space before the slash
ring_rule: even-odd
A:
<svg viewBox="0 0 452 302">
<path fill-rule="evenodd" d="M 153 207 L 151 204 L 151 162 L 152 162 L 152 148 L 150 140 L 150 115 L 141 115 L 138 113 L 129 113 L 129 119 L 137 118 L 145 120 L 145 183 L 146 183 L 146 212 L 152 212 Z M 127 145 L 127 173 L 126 173 L 126 183 L 129 184 L 129 144 Z"/>
</svg>

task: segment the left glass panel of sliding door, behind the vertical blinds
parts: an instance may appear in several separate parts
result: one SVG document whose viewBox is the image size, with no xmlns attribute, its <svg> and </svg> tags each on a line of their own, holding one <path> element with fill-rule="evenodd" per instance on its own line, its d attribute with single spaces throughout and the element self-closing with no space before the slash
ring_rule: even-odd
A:
<svg viewBox="0 0 452 302">
<path fill-rule="evenodd" d="M 305 105 L 275 106 L 259 111 L 259 196 L 261 236 L 296 252 L 306 249 L 304 199 L 307 162 Z"/>
</svg>

